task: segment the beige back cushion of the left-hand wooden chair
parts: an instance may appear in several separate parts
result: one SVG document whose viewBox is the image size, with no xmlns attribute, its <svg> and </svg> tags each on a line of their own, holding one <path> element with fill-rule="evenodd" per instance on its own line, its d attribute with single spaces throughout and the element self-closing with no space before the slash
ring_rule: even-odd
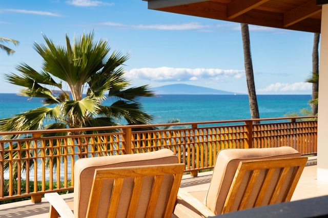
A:
<svg viewBox="0 0 328 218">
<path fill-rule="evenodd" d="M 168 149 L 142 154 L 128 154 L 117 156 L 105 156 L 84 158 L 76 161 L 74 166 L 74 214 L 75 217 L 85 217 L 89 202 L 89 196 L 96 168 L 154 165 L 178 163 L 178 158 Z M 147 183 L 147 181 L 146 181 Z M 129 185 L 129 184 L 127 184 Z M 104 183 L 103 188 L 108 187 L 108 193 L 101 193 L 97 217 L 106 217 L 108 211 L 108 196 L 112 183 Z M 144 195 L 147 197 L 147 191 Z"/>
</svg>

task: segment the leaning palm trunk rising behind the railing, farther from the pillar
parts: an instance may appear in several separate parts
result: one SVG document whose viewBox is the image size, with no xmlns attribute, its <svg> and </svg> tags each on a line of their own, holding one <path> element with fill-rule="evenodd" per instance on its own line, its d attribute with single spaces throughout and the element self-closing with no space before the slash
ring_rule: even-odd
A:
<svg viewBox="0 0 328 218">
<path fill-rule="evenodd" d="M 251 46 L 250 46 L 250 32 L 247 23 L 240 23 L 241 26 L 241 36 L 244 51 L 244 65 L 245 65 L 245 75 L 248 87 L 248 96 L 250 102 L 251 118 L 260 118 L 258 112 L 254 74 L 253 74 L 253 64 L 251 56 Z M 256 122 L 258 123 L 258 122 Z"/>
</svg>

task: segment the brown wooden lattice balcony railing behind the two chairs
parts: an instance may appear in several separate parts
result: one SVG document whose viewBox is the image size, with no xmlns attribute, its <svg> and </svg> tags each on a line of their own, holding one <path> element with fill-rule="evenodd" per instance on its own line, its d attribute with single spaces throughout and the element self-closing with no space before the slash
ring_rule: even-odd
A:
<svg viewBox="0 0 328 218">
<path fill-rule="evenodd" d="M 201 169 L 212 168 L 218 151 L 226 148 L 290 146 L 302 155 L 315 155 L 315 118 L 0 132 L 0 203 L 23 197 L 39 202 L 43 193 L 73 189 L 73 168 L 79 158 L 168 148 L 195 176 Z"/>
</svg>

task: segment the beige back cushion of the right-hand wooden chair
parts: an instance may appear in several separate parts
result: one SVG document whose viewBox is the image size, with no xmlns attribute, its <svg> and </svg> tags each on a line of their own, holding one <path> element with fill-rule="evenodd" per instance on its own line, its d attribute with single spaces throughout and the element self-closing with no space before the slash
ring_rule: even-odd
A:
<svg viewBox="0 0 328 218">
<path fill-rule="evenodd" d="M 219 151 L 204 204 L 215 214 L 221 214 L 224 201 L 226 201 L 229 188 L 240 161 L 299 156 L 300 153 L 291 147 L 223 149 Z"/>
</svg>

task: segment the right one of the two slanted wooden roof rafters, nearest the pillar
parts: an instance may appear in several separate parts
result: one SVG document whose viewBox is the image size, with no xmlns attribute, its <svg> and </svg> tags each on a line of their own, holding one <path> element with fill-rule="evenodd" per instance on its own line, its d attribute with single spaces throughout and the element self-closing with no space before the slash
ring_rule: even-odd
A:
<svg viewBox="0 0 328 218">
<path fill-rule="evenodd" d="M 295 23 L 309 18 L 322 10 L 321 6 L 316 5 L 316 0 L 300 5 L 299 7 L 284 13 L 283 27 L 289 27 Z"/>
</svg>

